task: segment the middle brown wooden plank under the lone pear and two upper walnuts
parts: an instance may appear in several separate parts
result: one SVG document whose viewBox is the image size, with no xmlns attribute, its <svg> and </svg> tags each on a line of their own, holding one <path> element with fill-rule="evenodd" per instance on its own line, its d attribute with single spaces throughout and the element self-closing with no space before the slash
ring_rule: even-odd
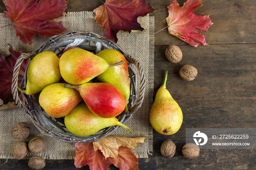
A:
<svg viewBox="0 0 256 170">
<path fill-rule="evenodd" d="M 180 46 L 183 58 L 176 64 L 166 59 L 166 47 L 155 47 L 154 94 L 167 70 L 166 88 L 184 116 L 173 138 L 185 137 L 186 128 L 255 128 L 256 44 Z M 178 74 L 185 64 L 197 68 L 191 82 Z"/>
</svg>

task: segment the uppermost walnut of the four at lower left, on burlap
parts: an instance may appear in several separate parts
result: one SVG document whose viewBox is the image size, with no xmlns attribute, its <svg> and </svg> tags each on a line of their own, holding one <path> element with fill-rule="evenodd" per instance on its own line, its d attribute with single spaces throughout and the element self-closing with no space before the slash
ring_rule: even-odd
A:
<svg viewBox="0 0 256 170">
<path fill-rule="evenodd" d="M 12 137 L 15 139 L 25 139 L 29 136 L 29 125 L 25 122 L 19 122 L 12 126 Z"/>
</svg>

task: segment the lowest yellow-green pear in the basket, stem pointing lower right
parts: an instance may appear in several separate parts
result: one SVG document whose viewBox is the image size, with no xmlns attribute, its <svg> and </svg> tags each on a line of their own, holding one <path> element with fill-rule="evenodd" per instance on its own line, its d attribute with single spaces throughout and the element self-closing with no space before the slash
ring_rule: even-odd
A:
<svg viewBox="0 0 256 170">
<path fill-rule="evenodd" d="M 102 118 L 93 114 L 84 102 L 79 103 L 64 119 L 65 126 L 74 135 L 89 136 L 109 126 L 121 126 L 132 133 L 129 127 L 117 118 Z"/>
</svg>

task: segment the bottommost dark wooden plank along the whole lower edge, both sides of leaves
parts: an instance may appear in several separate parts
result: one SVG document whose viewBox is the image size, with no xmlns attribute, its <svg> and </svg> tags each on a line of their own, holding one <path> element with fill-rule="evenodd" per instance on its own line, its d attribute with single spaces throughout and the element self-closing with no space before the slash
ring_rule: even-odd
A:
<svg viewBox="0 0 256 170">
<path fill-rule="evenodd" d="M 176 145 L 176 153 L 173 157 L 163 157 L 160 148 L 165 139 L 154 140 L 153 155 L 149 158 L 139 158 L 139 169 L 141 170 L 169 170 L 169 169 L 256 169 L 255 150 L 249 149 L 201 149 L 199 157 L 188 159 L 182 155 L 182 147 L 185 145 L 185 138 L 170 138 Z M 28 159 L 0 159 L 1 169 L 29 169 Z M 74 160 L 46 160 L 47 170 L 75 170 Z M 83 166 L 82 170 L 89 170 L 89 166 Z M 110 165 L 111 170 L 118 170 Z"/>
</svg>

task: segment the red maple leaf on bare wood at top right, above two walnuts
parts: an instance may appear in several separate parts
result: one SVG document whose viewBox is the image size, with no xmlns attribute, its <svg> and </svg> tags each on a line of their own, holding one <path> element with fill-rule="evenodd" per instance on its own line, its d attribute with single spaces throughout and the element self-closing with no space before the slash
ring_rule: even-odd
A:
<svg viewBox="0 0 256 170">
<path fill-rule="evenodd" d="M 208 45 L 205 36 L 198 32 L 207 31 L 213 23 L 209 15 L 199 16 L 194 14 L 196 8 L 202 5 L 202 0 L 188 0 L 180 7 L 177 1 L 173 0 L 172 4 L 168 6 L 169 16 L 166 18 L 169 34 L 194 47 L 199 44 Z"/>
</svg>

